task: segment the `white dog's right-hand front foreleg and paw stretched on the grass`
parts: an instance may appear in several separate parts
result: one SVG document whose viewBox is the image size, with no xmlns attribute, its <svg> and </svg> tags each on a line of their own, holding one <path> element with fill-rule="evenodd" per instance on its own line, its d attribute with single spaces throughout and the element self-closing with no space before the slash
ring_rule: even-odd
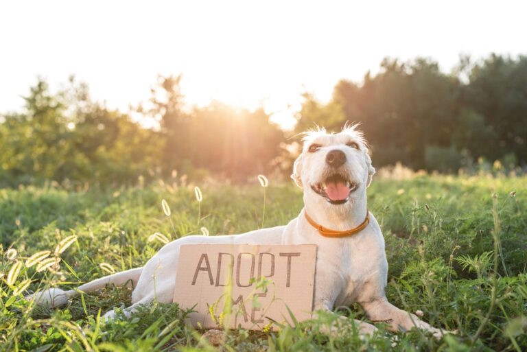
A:
<svg viewBox="0 0 527 352">
<path fill-rule="evenodd" d="M 430 331 L 435 338 L 441 338 L 443 331 L 436 329 L 417 318 L 415 314 L 408 313 L 388 302 L 386 297 L 370 302 L 360 303 L 368 318 L 373 322 L 386 322 L 390 331 L 408 331 L 414 327 Z"/>
</svg>

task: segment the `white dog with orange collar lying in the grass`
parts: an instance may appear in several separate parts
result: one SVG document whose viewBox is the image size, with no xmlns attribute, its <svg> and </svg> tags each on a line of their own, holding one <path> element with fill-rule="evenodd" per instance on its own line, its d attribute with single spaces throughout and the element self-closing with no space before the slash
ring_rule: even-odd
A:
<svg viewBox="0 0 527 352">
<path fill-rule="evenodd" d="M 150 303 L 154 298 L 172 302 L 174 273 L 182 244 L 316 244 L 314 310 L 331 310 L 356 302 L 373 322 L 387 322 L 393 331 L 418 327 L 439 337 L 440 330 L 386 299 L 388 263 L 384 238 L 366 206 L 366 187 L 373 174 L 375 168 L 371 165 L 366 141 L 355 126 L 344 128 L 338 134 L 328 134 L 325 130 L 307 132 L 292 174 L 296 185 L 303 189 L 304 209 L 287 226 L 243 235 L 183 237 L 161 248 L 143 268 L 91 281 L 78 290 L 92 292 L 107 284 L 124 285 L 132 281 L 132 305 L 124 309 L 129 316 L 139 305 Z M 31 298 L 36 298 L 38 304 L 60 306 L 78 294 L 78 290 L 51 289 Z M 111 310 L 105 317 L 114 315 Z M 357 322 L 362 333 L 375 330 L 373 325 Z"/>
</svg>

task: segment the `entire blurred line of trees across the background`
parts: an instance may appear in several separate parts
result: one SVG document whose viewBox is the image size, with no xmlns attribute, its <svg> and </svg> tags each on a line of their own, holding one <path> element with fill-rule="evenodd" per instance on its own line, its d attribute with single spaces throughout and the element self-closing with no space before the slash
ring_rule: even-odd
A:
<svg viewBox="0 0 527 352">
<path fill-rule="evenodd" d="M 0 115 L 0 185 L 132 184 L 174 173 L 246 180 L 289 172 L 296 132 L 347 122 L 362 125 L 376 166 L 456 172 L 478 159 L 527 164 L 526 56 L 462 57 L 450 73 L 430 59 L 385 59 L 360 84 L 338 82 L 327 104 L 303 97 L 295 130 L 283 131 L 262 108 L 185 109 L 180 76 L 160 77 L 150 101 L 134 109 L 159 125 L 144 128 L 130 113 L 93 102 L 86 84 L 71 78 L 52 93 L 39 79 L 23 110 Z"/>
</svg>

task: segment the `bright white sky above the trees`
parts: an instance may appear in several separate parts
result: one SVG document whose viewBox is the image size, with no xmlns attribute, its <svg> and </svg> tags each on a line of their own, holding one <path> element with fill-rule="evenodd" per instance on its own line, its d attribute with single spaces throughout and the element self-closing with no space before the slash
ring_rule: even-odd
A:
<svg viewBox="0 0 527 352">
<path fill-rule="evenodd" d="M 69 75 L 128 111 L 157 75 L 182 74 L 187 106 L 262 106 L 285 128 L 301 93 L 321 102 L 385 57 L 527 54 L 526 1 L 2 1 L 0 113 L 38 76 Z"/>
</svg>

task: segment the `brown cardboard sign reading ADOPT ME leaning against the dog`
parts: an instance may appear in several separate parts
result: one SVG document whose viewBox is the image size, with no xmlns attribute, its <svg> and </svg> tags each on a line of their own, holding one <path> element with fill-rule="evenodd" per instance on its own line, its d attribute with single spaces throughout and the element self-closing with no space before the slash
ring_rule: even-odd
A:
<svg viewBox="0 0 527 352">
<path fill-rule="evenodd" d="M 194 327 L 259 330 L 311 318 L 316 245 L 187 244 L 180 248 L 174 302 Z"/>
</svg>

